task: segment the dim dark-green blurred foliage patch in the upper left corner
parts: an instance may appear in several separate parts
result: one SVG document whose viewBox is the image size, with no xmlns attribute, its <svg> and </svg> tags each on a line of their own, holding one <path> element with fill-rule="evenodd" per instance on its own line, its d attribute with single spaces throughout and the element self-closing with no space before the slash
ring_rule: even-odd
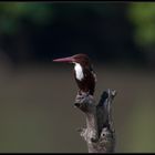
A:
<svg viewBox="0 0 155 155">
<path fill-rule="evenodd" d="M 0 30 L 12 34 L 21 28 L 21 20 L 33 24 L 45 24 L 50 18 L 52 6 L 42 2 L 3 2 L 0 3 Z"/>
</svg>

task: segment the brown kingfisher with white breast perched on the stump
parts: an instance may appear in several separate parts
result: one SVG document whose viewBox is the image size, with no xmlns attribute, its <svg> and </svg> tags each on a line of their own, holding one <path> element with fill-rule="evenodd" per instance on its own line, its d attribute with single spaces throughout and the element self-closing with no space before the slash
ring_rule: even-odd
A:
<svg viewBox="0 0 155 155">
<path fill-rule="evenodd" d="M 93 70 L 90 58 L 79 53 L 68 58 L 54 59 L 54 62 L 68 62 L 74 64 L 73 75 L 79 87 L 79 95 L 94 95 L 96 74 Z"/>
</svg>

